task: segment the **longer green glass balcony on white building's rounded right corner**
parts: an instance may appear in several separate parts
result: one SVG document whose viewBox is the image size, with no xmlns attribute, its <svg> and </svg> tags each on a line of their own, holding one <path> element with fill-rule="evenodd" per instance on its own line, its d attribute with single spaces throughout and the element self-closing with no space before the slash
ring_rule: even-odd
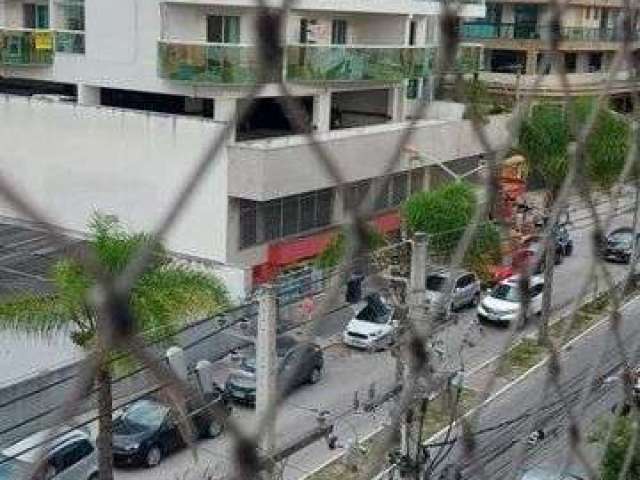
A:
<svg viewBox="0 0 640 480">
<path fill-rule="evenodd" d="M 287 80 L 293 82 L 397 82 L 425 77 L 435 49 L 358 45 L 290 45 Z"/>
</svg>

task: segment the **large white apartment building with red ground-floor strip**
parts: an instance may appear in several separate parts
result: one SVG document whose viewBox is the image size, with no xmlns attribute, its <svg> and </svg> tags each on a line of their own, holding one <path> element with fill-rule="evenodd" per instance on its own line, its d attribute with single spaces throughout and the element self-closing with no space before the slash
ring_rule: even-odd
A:
<svg viewBox="0 0 640 480">
<path fill-rule="evenodd" d="M 371 223 L 393 233 L 398 205 L 443 175 L 437 165 L 477 169 L 487 152 L 461 115 L 441 109 L 416 125 L 412 145 L 386 171 L 406 122 L 430 94 L 440 8 L 425 0 L 296 2 L 276 76 L 305 114 L 298 125 L 280 106 L 279 78 L 237 120 L 259 65 L 252 1 L 2 0 L 0 91 L 9 95 L 0 115 L 16 123 L 0 127 L 0 140 L 31 167 L 4 169 L 27 190 L 38 185 L 71 230 L 83 229 L 92 208 L 149 228 L 194 168 L 192 157 L 231 122 L 192 210 L 167 242 L 244 271 L 247 285 L 269 280 L 317 255 L 348 207 L 369 201 L 376 186 L 386 185 L 369 201 Z M 468 18 L 484 14 L 482 3 L 462 9 Z M 462 55 L 465 65 L 477 64 L 481 48 L 465 46 Z M 68 103 L 39 100 L 51 98 Z M 489 130 L 502 135 L 494 123 Z M 51 141 L 30 142 L 30 129 Z M 345 183 L 328 174 L 308 132 Z"/>
</svg>

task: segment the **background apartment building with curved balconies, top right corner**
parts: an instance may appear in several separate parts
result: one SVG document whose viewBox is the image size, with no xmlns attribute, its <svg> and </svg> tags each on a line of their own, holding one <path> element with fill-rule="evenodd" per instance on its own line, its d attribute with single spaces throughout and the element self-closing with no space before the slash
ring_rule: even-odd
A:
<svg viewBox="0 0 640 480">
<path fill-rule="evenodd" d="M 622 45 L 623 7 L 624 2 L 618 0 L 570 0 L 563 4 L 559 50 L 572 95 L 594 94 L 602 88 Z M 549 75 L 557 70 L 549 55 L 551 2 L 500 0 L 487 2 L 486 8 L 483 19 L 468 20 L 461 26 L 462 38 L 484 46 L 482 79 L 509 94 L 564 95 L 559 78 Z M 619 71 L 611 92 L 624 95 L 636 86 L 627 81 L 626 62 Z M 546 76 L 536 80 L 540 74 Z"/>
</svg>

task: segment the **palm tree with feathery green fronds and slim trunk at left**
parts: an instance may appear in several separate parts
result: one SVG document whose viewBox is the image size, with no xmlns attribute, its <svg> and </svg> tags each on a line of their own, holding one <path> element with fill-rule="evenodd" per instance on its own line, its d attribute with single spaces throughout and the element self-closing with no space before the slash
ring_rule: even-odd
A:
<svg viewBox="0 0 640 480">
<path fill-rule="evenodd" d="M 143 233 L 127 232 L 113 216 L 94 214 L 88 247 L 102 269 L 112 275 L 122 272 L 134 253 L 151 239 Z M 228 296 L 213 276 L 169 261 L 162 248 L 153 245 L 153 260 L 134 284 L 130 309 L 137 329 L 148 341 L 169 338 L 195 316 L 211 315 L 226 308 Z M 94 275 L 79 261 L 65 258 L 52 271 L 55 293 L 47 296 L 21 294 L 0 303 L 0 329 L 47 335 L 69 333 L 83 349 L 100 348 L 96 331 L 97 312 L 87 301 L 95 284 Z M 111 380 L 115 355 L 101 352 L 96 372 L 98 392 L 98 466 L 100 480 L 113 478 Z M 121 356 L 121 355 L 120 355 Z"/>
</svg>

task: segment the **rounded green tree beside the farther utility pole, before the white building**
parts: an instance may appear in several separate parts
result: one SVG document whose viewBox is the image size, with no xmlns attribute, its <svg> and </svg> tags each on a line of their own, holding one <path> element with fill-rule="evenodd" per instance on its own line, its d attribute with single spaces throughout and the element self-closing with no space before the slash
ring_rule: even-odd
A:
<svg viewBox="0 0 640 480">
<path fill-rule="evenodd" d="M 410 232 L 429 236 L 429 251 L 448 257 L 455 250 L 477 207 L 473 186 L 454 182 L 413 195 L 403 208 Z M 492 223 L 479 225 L 467 251 L 465 264 L 479 274 L 500 261 L 500 232 Z"/>
</svg>

